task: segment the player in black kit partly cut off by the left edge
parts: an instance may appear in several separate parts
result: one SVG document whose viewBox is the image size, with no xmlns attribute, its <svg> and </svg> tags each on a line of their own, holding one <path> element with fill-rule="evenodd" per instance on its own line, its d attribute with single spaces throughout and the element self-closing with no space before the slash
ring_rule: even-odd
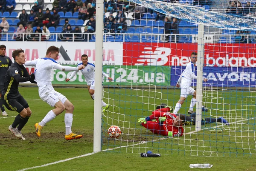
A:
<svg viewBox="0 0 256 171">
<path fill-rule="evenodd" d="M 12 60 L 5 56 L 6 53 L 6 46 L 0 45 L 0 109 L 2 111 L 2 115 L 7 117 L 8 114 L 6 113 L 3 105 L 3 100 L 1 99 L 3 86 L 4 86 L 4 77 L 6 75 L 7 70 L 12 65 Z M 1 114 L 1 112 L 0 112 Z"/>
</svg>

